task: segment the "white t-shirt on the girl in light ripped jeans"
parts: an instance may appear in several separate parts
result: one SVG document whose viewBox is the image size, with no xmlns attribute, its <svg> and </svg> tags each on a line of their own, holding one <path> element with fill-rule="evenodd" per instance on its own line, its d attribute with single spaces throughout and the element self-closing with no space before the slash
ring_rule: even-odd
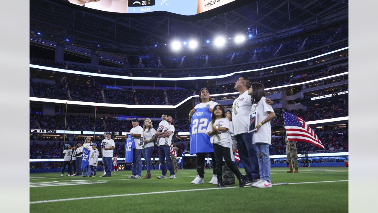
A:
<svg viewBox="0 0 378 213">
<path fill-rule="evenodd" d="M 273 108 L 266 104 L 265 97 L 261 97 L 260 101 L 252 106 L 252 112 L 257 111 L 257 122 L 262 122 L 268 117 L 268 112 L 274 112 Z M 266 143 L 271 145 L 272 132 L 270 127 L 270 121 L 263 124 L 259 131 L 253 133 L 253 144 Z"/>
</svg>

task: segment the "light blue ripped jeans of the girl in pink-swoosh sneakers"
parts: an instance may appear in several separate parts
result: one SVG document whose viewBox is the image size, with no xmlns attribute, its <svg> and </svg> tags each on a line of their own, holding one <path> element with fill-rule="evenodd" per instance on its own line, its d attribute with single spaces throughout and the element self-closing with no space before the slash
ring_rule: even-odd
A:
<svg viewBox="0 0 378 213">
<path fill-rule="evenodd" d="M 260 179 L 270 182 L 269 144 L 256 143 L 257 159 L 259 159 Z"/>
</svg>

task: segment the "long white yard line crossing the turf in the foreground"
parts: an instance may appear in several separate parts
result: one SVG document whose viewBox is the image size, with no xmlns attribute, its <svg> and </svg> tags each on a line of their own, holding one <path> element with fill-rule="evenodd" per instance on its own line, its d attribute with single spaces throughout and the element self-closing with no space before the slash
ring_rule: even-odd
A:
<svg viewBox="0 0 378 213">
<path fill-rule="evenodd" d="M 349 180 L 332 180 L 332 181 L 302 182 L 302 183 L 276 183 L 276 184 L 273 184 L 273 185 L 289 185 L 289 184 L 305 184 L 305 183 L 330 183 L 330 182 L 345 182 L 345 181 L 349 181 Z M 187 192 L 187 191 L 225 190 L 225 189 L 232 189 L 232 188 L 239 188 L 239 186 L 232 186 L 232 187 L 226 187 L 226 188 L 204 188 L 204 189 L 194 189 L 194 190 L 155 191 L 155 192 L 135 193 L 135 194 L 115 194 L 115 195 L 93 196 L 93 197 L 76 197 L 76 198 L 56 199 L 56 200 L 40 200 L 40 201 L 29 202 L 29 204 L 42 204 L 42 203 L 60 202 L 60 201 L 68 201 L 68 200 L 84 200 L 84 199 L 104 198 L 104 197 L 125 197 L 125 196 L 147 195 L 147 194 L 165 194 L 165 193 L 176 193 L 176 192 Z"/>
</svg>

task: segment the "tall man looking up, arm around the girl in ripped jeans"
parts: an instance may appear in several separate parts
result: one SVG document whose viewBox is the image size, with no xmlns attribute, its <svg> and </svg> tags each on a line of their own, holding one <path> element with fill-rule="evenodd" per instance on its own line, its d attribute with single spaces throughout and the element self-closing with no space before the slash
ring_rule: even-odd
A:
<svg viewBox="0 0 378 213">
<path fill-rule="evenodd" d="M 248 95 L 250 87 L 251 82 L 247 78 L 238 78 L 234 88 L 239 91 L 240 96 L 232 104 L 232 124 L 234 125 L 239 157 L 246 172 L 246 185 L 251 185 L 260 180 L 256 147 L 252 144 L 253 134 L 248 133 L 249 114 L 251 114 L 252 109 L 251 96 Z M 270 99 L 266 99 L 266 103 L 271 105 L 272 102 Z"/>
</svg>

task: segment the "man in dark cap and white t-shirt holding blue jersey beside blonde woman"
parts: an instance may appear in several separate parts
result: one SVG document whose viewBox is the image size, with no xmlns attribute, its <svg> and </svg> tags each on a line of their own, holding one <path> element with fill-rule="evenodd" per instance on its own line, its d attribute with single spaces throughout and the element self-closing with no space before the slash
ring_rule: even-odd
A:
<svg viewBox="0 0 378 213">
<path fill-rule="evenodd" d="M 130 136 L 134 138 L 134 142 L 135 142 L 135 149 L 133 149 L 133 172 L 127 178 L 139 179 L 141 178 L 141 173 L 142 173 L 141 150 L 143 149 L 142 146 L 139 146 L 139 142 L 140 142 L 139 137 L 142 136 L 143 128 L 139 126 L 138 119 L 136 118 L 132 120 L 132 124 L 133 124 L 133 128 L 130 130 Z M 126 140 L 127 140 L 127 135 L 126 135 Z"/>
</svg>

